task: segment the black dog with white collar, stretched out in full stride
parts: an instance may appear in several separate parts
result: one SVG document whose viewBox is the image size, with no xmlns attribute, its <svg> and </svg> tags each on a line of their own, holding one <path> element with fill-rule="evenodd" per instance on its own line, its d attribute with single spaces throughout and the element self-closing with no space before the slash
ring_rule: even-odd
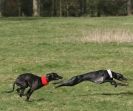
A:
<svg viewBox="0 0 133 111">
<path fill-rule="evenodd" d="M 94 72 L 77 75 L 77 76 L 72 77 L 68 81 L 56 82 L 54 84 L 58 84 L 55 87 L 55 88 L 58 88 L 62 86 L 74 86 L 83 81 L 91 81 L 91 82 L 98 83 L 98 84 L 110 82 L 111 85 L 114 85 L 115 87 L 117 87 L 117 85 L 127 86 L 127 84 L 117 83 L 114 79 L 117 79 L 119 81 L 124 81 L 124 80 L 127 81 L 127 78 L 125 78 L 120 73 L 116 73 L 111 70 L 98 70 Z"/>
</svg>

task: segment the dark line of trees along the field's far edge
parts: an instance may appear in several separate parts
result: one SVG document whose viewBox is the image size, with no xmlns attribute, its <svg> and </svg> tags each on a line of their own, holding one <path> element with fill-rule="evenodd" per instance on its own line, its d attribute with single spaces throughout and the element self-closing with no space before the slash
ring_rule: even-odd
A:
<svg viewBox="0 0 133 111">
<path fill-rule="evenodd" d="M 125 16 L 133 0 L 0 0 L 0 16 Z"/>
</svg>

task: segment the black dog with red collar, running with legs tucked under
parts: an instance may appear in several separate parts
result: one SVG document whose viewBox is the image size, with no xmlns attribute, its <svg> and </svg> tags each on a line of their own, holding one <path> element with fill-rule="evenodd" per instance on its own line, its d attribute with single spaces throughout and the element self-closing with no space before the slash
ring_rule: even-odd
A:
<svg viewBox="0 0 133 111">
<path fill-rule="evenodd" d="M 27 97 L 26 100 L 29 101 L 31 94 L 35 90 L 47 85 L 50 81 L 59 80 L 62 78 L 63 77 L 59 76 L 57 73 L 48 73 L 42 77 L 36 76 L 31 73 L 21 74 L 17 77 L 17 79 L 13 84 L 13 90 L 7 91 L 7 93 L 13 92 L 15 89 L 15 85 L 17 85 L 18 88 L 16 89 L 16 91 L 18 92 L 20 97 L 26 96 Z M 27 91 L 26 94 L 24 94 L 25 89 L 28 87 L 29 90 Z"/>
</svg>

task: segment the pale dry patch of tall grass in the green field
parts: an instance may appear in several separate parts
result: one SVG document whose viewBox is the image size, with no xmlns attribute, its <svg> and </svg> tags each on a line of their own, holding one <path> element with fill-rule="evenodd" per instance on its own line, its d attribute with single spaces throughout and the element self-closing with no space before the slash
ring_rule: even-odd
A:
<svg viewBox="0 0 133 111">
<path fill-rule="evenodd" d="M 93 31 L 82 31 L 82 37 L 79 39 L 81 42 L 133 42 L 133 33 L 126 29 L 96 29 Z"/>
</svg>

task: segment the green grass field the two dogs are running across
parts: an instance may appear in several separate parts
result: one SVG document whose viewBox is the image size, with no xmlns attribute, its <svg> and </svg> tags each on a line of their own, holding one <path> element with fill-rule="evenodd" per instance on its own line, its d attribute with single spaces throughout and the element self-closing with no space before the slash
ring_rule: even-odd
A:
<svg viewBox="0 0 133 111">
<path fill-rule="evenodd" d="M 83 82 L 36 91 L 31 102 L 12 88 L 21 73 L 74 75 L 111 69 L 133 78 L 133 17 L 0 18 L 0 111 L 132 111 L 128 87 Z"/>
</svg>

